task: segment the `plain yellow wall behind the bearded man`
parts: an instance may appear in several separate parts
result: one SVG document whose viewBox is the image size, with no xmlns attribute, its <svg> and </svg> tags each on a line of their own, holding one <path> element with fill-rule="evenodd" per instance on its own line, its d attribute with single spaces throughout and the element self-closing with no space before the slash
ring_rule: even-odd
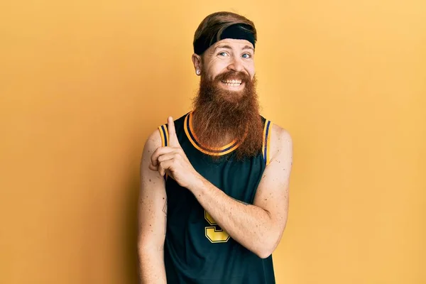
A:
<svg viewBox="0 0 426 284">
<path fill-rule="evenodd" d="M 4 1 L 0 283 L 137 283 L 138 165 L 190 110 L 192 36 L 258 28 L 294 141 L 279 284 L 426 283 L 426 1 Z"/>
</svg>

